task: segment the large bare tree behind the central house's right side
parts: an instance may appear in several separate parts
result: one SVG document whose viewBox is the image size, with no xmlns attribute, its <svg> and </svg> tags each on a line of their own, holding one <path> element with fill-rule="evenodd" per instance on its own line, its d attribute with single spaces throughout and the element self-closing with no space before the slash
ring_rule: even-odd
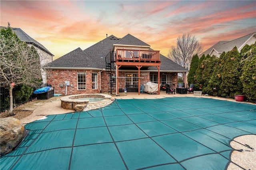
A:
<svg viewBox="0 0 256 170">
<path fill-rule="evenodd" d="M 201 53 L 203 50 L 201 43 L 195 36 L 191 37 L 190 33 L 183 34 L 177 38 L 177 45 L 172 45 L 167 55 L 175 63 L 184 66 L 187 57 L 193 57 L 195 54 Z"/>
</svg>

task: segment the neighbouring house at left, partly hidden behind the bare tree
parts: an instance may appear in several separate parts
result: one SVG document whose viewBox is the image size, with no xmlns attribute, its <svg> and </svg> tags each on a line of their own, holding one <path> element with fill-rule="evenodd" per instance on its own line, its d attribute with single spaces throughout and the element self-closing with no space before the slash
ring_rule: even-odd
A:
<svg viewBox="0 0 256 170">
<path fill-rule="evenodd" d="M 0 27 L 1 29 L 6 29 L 7 27 Z M 52 62 L 52 57 L 54 56 L 48 49 L 46 49 L 42 44 L 38 43 L 38 41 L 31 38 L 28 34 L 26 34 L 22 29 L 20 28 L 12 28 L 12 32 L 16 33 L 20 41 L 26 42 L 28 46 L 34 46 L 36 49 L 39 57 L 40 57 L 40 63 L 42 66 L 45 64 L 48 64 Z M 46 70 L 41 70 L 42 72 L 42 79 L 43 83 L 46 84 Z"/>
</svg>

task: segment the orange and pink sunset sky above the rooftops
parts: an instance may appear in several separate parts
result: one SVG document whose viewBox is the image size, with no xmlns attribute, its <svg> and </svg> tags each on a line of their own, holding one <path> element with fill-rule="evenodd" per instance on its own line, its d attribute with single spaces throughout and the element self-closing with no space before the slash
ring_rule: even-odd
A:
<svg viewBox="0 0 256 170">
<path fill-rule="evenodd" d="M 190 33 L 204 50 L 256 31 L 256 1 L 0 0 L 1 26 L 21 28 L 55 55 L 128 33 L 167 55 Z"/>
</svg>

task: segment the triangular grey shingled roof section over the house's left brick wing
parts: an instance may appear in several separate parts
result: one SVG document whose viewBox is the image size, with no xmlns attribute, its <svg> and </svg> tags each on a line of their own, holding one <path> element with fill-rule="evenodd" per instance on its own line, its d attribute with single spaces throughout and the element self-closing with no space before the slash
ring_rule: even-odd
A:
<svg viewBox="0 0 256 170">
<path fill-rule="evenodd" d="M 90 69 L 99 68 L 96 61 L 93 61 L 80 47 L 46 65 L 55 69 L 84 69 L 88 66 Z"/>
</svg>

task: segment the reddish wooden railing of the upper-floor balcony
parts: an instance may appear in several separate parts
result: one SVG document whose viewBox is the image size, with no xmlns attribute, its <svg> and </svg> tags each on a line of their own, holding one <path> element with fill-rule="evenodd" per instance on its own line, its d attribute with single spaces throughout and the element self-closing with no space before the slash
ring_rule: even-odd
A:
<svg viewBox="0 0 256 170">
<path fill-rule="evenodd" d="M 117 49 L 117 61 L 160 61 L 160 51 Z"/>
</svg>

